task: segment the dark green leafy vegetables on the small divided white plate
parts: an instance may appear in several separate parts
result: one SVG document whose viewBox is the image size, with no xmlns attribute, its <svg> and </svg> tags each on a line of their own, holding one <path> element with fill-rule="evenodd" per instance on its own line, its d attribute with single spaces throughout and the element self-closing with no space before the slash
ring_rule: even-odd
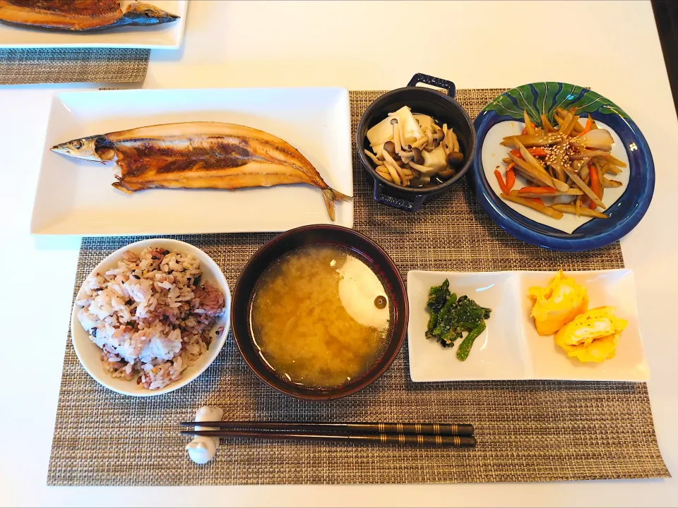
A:
<svg viewBox="0 0 678 508">
<path fill-rule="evenodd" d="M 466 295 L 457 298 L 451 293 L 447 279 L 440 286 L 429 289 L 426 306 L 430 314 L 427 339 L 436 339 L 447 348 L 454 346 L 454 341 L 461 339 L 463 332 L 468 332 L 457 349 L 457 358 L 465 361 L 473 342 L 484 332 L 485 320 L 489 319 L 492 309 L 479 306 Z"/>
</svg>

